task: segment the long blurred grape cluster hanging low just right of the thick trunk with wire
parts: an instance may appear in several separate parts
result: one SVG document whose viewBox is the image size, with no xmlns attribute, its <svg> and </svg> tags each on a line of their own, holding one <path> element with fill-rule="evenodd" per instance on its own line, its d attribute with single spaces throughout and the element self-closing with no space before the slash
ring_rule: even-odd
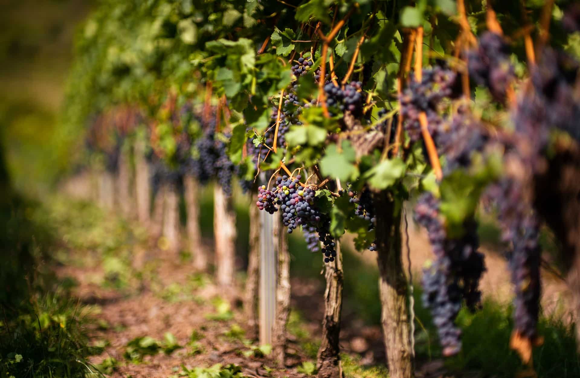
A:
<svg viewBox="0 0 580 378">
<path fill-rule="evenodd" d="M 481 299 L 478 283 L 485 271 L 483 255 L 477 252 L 477 224 L 468 219 L 465 232 L 450 238 L 440 219 L 440 203 L 430 192 L 415 206 L 415 220 L 427 229 L 435 260 L 423 271 L 423 303 L 429 307 L 437 326 L 443 353 L 454 355 L 461 350 L 461 331 L 454 324 L 465 299 L 474 310 Z"/>
</svg>

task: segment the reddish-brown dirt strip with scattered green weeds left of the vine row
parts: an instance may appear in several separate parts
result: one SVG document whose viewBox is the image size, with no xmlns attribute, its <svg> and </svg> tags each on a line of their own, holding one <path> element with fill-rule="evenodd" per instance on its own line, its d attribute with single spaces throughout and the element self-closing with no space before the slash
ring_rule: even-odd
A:
<svg viewBox="0 0 580 378">
<path fill-rule="evenodd" d="M 136 288 L 103 288 L 107 279 L 101 267 L 61 267 L 57 271 L 61 277 L 76 279 L 74 295 L 97 310 L 99 328 L 93 336 L 95 344 L 105 346 L 105 352 L 92 362 L 101 364 L 113 358 L 117 362 L 108 371 L 112 377 L 171 377 L 184 372 L 182 365 L 191 370 L 215 364 L 237 365 L 249 377 L 305 376 L 297 369 L 307 358 L 294 341 L 289 343 L 287 368 L 278 370 L 273 361 L 260 356 L 256 344 L 245 339 L 248 329 L 239 308 L 238 289 L 220 292 L 205 275 L 192 275 L 189 264 L 154 259 L 160 252 L 137 256 L 135 265 L 155 268 L 136 281 Z M 180 346 L 171 354 L 165 353 L 171 350 L 166 347 L 166 333 Z M 138 337 L 155 340 L 157 346 L 152 350 L 157 351 L 153 355 L 135 351 L 139 348 L 131 351 L 128 344 Z M 128 352 L 134 357 L 128 358 Z"/>
</svg>

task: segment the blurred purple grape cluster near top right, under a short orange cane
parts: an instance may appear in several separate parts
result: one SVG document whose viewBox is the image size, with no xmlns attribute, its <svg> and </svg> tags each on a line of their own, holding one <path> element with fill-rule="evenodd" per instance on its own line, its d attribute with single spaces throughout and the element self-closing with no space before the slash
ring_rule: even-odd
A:
<svg viewBox="0 0 580 378">
<path fill-rule="evenodd" d="M 467 53 L 469 77 L 487 86 L 497 101 L 503 101 L 509 83 L 514 79 L 509 45 L 503 37 L 491 31 L 481 34 L 477 48 Z"/>
</svg>

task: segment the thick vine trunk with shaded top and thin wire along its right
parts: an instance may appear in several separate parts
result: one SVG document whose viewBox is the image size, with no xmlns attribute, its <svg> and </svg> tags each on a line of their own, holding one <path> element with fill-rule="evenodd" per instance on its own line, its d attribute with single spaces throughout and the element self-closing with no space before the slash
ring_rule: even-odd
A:
<svg viewBox="0 0 580 378">
<path fill-rule="evenodd" d="M 410 378 L 414 376 L 414 352 L 409 337 L 408 283 L 401 253 L 402 205 L 396 203 L 386 191 L 376 193 L 374 199 L 381 322 L 389 376 Z"/>
</svg>

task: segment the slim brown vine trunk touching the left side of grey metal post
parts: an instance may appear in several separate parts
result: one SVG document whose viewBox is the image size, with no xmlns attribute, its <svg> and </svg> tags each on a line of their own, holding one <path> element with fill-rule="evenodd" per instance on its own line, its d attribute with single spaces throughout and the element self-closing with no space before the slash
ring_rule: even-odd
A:
<svg viewBox="0 0 580 378">
<path fill-rule="evenodd" d="M 256 206 L 254 193 L 252 190 L 250 201 L 250 230 L 249 230 L 249 253 L 248 253 L 248 277 L 245 287 L 244 311 L 250 329 L 249 337 L 254 338 L 258 335 L 258 288 L 260 280 L 260 230 L 262 222 L 260 209 Z"/>
</svg>

